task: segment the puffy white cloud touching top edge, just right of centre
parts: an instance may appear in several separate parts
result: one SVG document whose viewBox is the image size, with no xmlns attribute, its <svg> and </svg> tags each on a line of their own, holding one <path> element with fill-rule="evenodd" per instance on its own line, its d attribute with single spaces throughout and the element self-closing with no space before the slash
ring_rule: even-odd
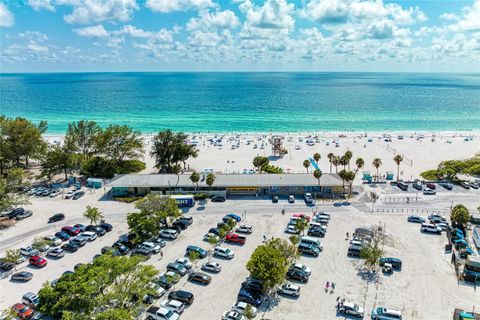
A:
<svg viewBox="0 0 480 320">
<path fill-rule="evenodd" d="M 246 15 L 246 24 L 255 28 L 285 29 L 291 31 L 295 20 L 292 17 L 295 6 L 287 0 L 266 0 L 259 7 L 250 0 L 246 0 L 239 6 Z"/>
</svg>

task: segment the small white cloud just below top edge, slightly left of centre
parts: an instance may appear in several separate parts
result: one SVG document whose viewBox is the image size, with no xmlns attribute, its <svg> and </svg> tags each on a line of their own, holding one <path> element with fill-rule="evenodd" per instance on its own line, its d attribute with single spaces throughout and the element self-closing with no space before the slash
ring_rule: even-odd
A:
<svg viewBox="0 0 480 320">
<path fill-rule="evenodd" d="M 240 21 L 231 10 L 225 11 L 201 11 L 198 18 L 191 18 L 187 23 L 187 30 L 209 29 L 234 29 L 240 25 Z"/>
</svg>

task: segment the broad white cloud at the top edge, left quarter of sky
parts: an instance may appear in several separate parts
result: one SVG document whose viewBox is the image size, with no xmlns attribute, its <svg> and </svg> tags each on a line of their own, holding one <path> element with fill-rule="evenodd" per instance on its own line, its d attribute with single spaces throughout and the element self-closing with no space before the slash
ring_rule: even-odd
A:
<svg viewBox="0 0 480 320">
<path fill-rule="evenodd" d="M 57 0 L 59 5 L 71 5 L 73 11 L 64 16 L 70 24 L 89 24 L 102 21 L 128 21 L 138 9 L 135 0 Z"/>
</svg>

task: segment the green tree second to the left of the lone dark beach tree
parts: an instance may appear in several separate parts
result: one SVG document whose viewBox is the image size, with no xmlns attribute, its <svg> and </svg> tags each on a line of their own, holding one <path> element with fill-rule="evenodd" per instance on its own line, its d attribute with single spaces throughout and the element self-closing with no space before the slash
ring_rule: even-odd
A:
<svg viewBox="0 0 480 320">
<path fill-rule="evenodd" d="M 81 120 L 68 124 L 65 146 L 71 152 L 78 152 L 84 160 L 98 155 L 99 138 L 102 128 L 90 120 Z"/>
</svg>

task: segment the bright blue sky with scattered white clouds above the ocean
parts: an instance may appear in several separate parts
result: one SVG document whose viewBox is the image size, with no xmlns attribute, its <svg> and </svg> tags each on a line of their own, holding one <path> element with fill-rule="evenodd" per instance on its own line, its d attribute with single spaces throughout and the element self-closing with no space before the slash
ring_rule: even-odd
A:
<svg viewBox="0 0 480 320">
<path fill-rule="evenodd" d="M 480 0 L 0 0 L 0 73 L 480 72 Z"/>
</svg>

